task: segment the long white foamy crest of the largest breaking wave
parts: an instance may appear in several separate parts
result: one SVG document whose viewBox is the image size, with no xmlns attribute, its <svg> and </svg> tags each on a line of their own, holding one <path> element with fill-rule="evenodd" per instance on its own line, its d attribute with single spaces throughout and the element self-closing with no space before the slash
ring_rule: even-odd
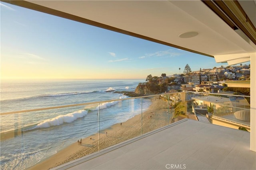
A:
<svg viewBox="0 0 256 170">
<path fill-rule="evenodd" d="M 50 126 L 58 126 L 62 125 L 63 123 L 71 123 L 72 121 L 76 120 L 77 118 L 84 117 L 88 111 L 86 110 L 79 110 L 75 111 L 73 113 L 68 113 L 66 115 L 58 115 L 57 117 L 54 117 L 53 119 L 48 119 L 43 121 L 42 123 L 39 123 L 36 125 L 36 128 L 46 128 Z"/>
</svg>

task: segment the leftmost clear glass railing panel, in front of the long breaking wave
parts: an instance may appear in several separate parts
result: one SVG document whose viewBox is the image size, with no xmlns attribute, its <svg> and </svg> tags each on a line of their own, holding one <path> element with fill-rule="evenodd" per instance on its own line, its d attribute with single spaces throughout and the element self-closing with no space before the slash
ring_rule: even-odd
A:
<svg viewBox="0 0 256 170">
<path fill-rule="evenodd" d="M 1 115 L 1 169 L 28 168 L 72 145 L 79 149 L 91 148 L 91 144 L 84 138 L 97 133 L 95 108 L 78 106 Z M 80 139 L 81 144 L 78 143 Z M 72 158 L 56 162 L 56 166 L 96 152 L 96 146 L 96 150 L 80 150 Z"/>
</svg>

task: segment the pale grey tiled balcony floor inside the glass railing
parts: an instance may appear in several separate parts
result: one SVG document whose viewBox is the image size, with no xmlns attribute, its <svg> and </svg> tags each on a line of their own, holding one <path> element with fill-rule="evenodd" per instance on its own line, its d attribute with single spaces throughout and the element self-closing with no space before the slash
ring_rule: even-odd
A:
<svg viewBox="0 0 256 170">
<path fill-rule="evenodd" d="M 183 119 L 54 169 L 256 170 L 250 133 Z"/>
</svg>

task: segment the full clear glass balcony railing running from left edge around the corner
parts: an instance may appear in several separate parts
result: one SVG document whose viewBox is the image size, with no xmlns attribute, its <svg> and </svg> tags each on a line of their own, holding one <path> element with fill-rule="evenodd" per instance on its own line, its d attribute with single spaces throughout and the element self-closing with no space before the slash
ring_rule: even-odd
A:
<svg viewBox="0 0 256 170">
<path fill-rule="evenodd" d="M 25 169 L 63 148 L 81 147 L 58 166 L 184 118 L 250 131 L 249 99 L 176 92 L 1 113 L 1 169 Z"/>
</svg>

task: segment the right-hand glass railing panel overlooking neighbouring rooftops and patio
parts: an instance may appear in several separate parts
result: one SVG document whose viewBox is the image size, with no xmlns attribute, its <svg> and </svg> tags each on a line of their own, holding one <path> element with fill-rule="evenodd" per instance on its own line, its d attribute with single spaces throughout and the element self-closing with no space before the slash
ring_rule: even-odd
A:
<svg viewBox="0 0 256 170">
<path fill-rule="evenodd" d="M 250 131 L 250 97 L 209 93 L 189 95 L 192 95 L 192 111 L 199 121 Z"/>
</svg>

